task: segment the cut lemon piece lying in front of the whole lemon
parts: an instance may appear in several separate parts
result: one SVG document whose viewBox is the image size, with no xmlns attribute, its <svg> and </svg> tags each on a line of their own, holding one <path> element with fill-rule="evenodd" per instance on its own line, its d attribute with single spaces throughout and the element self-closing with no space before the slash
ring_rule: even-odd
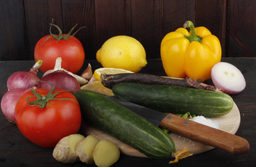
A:
<svg viewBox="0 0 256 167">
<path fill-rule="evenodd" d="M 101 80 L 101 74 L 120 74 L 120 73 L 134 73 L 121 68 L 101 67 L 94 71 L 94 79 Z"/>
</svg>

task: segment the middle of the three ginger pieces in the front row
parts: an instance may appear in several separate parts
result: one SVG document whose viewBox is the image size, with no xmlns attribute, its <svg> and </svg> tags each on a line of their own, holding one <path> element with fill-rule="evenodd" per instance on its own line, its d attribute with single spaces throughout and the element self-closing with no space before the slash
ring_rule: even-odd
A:
<svg viewBox="0 0 256 167">
<path fill-rule="evenodd" d="M 83 141 L 79 141 L 76 145 L 76 154 L 80 158 L 80 161 L 86 164 L 93 164 L 93 152 L 96 145 L 99 143 L 99 139 L 94 136 L 87 136 Z"/>
</svg>

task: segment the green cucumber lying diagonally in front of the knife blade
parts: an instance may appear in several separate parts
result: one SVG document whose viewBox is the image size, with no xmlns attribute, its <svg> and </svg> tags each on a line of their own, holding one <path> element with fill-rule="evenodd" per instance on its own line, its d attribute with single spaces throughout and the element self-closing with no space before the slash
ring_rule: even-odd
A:
<svg viewBox="0 0 256 167">
<path fill-rule="evenodd" d="M 170 158 L 175 151 L 173 140 L 162 129 L 108 97 L 88 90 L 79 90 L 74 95 L 88 124 L 151 158 Z"/>
</svg>

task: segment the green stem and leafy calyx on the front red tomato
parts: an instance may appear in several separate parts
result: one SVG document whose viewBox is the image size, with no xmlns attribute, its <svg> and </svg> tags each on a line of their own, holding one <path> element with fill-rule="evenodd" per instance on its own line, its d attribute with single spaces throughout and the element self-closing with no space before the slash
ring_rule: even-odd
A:
<svg viewBox="0 0 256 167">
<path fill-rule="evenodd" d="M 46 81 L 41 81 L 41 82 L 45 82 L 47 84 L 50 84 L 49 82 L 46 82 Z M 39 93 L 36 93 L 36 90 L 34 88 L 35 85 L 36 84 L 31 86 L 31 88 L 30 88 L 30 90 L 34 94 L 34 96 L 33 97 L 27 97 L 27 103 L 28 103 L 29 106 L 39 106 L 41 109 L 43 109 L 45 107 L 45 105 L 47 104 L 47 102 L 49 102 L 50 100 L 72 100 L 72 99 L 69 99 L 69 98 L 62 98 L 62 99 L 55 99 L 54 98 L 56 95 L 59 95 L 59 93 L 68 92 L 69 90 L 64 90 L 64 91 L 60 91 L 58 93 L 52 94 L 52 92 L 54 90 L 54 86 L 52 84 L 50 84 L 50 86 L 52 87 L 50 92 L 47 95 L 43 96 L 43 95 L 40 95 Z M 29 102 L 29 99 L 34 98 L 34 97 L 36 97 L 37 100 Z M 75 100 L 73 100 L 73 101 L 76 102 Z"/>
</svg>

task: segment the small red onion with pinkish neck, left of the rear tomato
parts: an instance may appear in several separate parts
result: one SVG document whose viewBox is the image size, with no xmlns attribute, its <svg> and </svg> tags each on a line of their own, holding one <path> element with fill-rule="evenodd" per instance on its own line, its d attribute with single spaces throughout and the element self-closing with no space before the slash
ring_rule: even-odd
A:
<svg viewBox="0 0 256 167">
<path fill-rule="evenodd" d="M 36 84 L 38 80 L 40 80 L 36 74 L 38 72 L 38 68 L 42 65 L 43 61 L 37 61 L 36 64 L 31 67 L 29 72 L 15 72 L 10 75 L 7 80 L 7 88 L 8 90 L 12 90 L 15 88 L 23 88 L 27 89 L 30 86 Z"/>
</svg>

